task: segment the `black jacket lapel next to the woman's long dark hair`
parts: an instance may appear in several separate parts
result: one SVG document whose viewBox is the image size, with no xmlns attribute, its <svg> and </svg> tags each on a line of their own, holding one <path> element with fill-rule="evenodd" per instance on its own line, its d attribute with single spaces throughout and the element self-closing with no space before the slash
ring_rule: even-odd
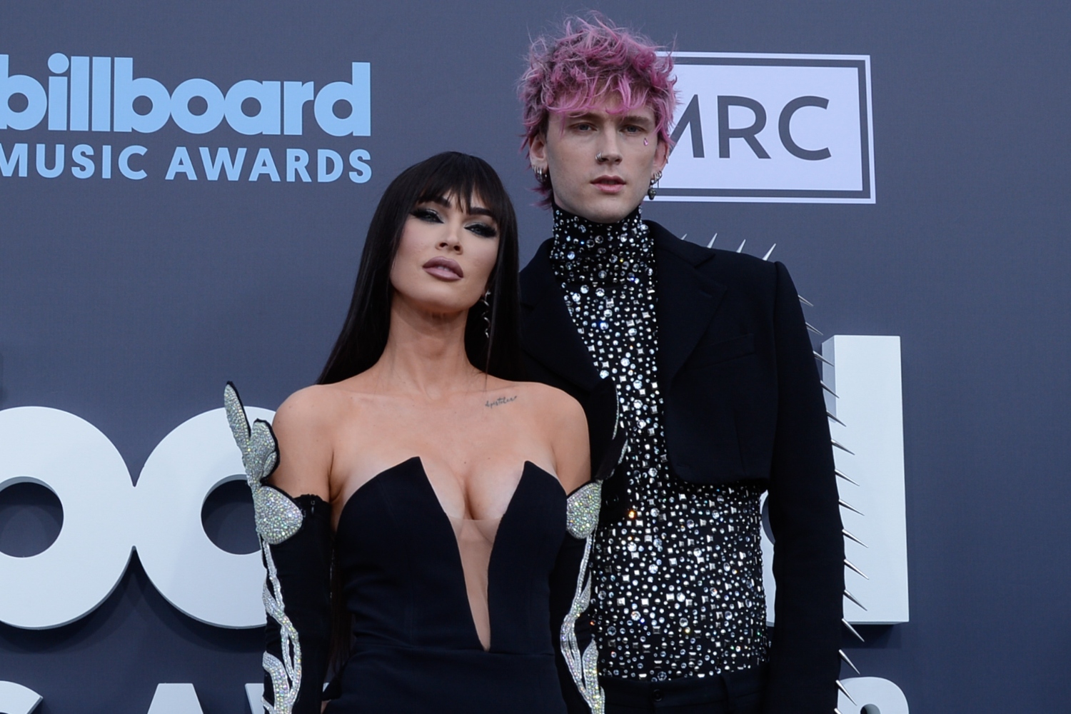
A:
<svg viewBox="0 0 1071 714">
<path fill-rule="evenodd" d="M 588 348 L 565 307 L 550 267 L 550 242 L 544 242 L 521 271 L 521 344 L 532 359 L 587 391 L 599 383 Z"/>
</svg>

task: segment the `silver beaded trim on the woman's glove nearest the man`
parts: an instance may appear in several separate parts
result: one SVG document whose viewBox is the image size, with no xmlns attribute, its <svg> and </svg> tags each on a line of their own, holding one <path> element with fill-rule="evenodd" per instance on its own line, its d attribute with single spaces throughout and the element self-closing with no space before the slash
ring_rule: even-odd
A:
<svg viewBox="0 0 1071 714">
<path fill-rule="evenodd" d="M 561 654 L 576 689 L 591 708 L 591 714 L 603 714 L 606 697 L 599 686 L 599 650 L 592 639 L 580 652 L 576 641 L 576 621 L 591 603 L 591 578 L 588 560 L 591 557 L 591 535 L 599 526 L 599 506 L 602 502 L 602 482 L 591 481 L 573 491 L 565 503 L 565 527 L 575 538 L 584 538 L 584 558 L 576 576 L 576 592 L 569 614 L 561 623 Z"/>
</svg>

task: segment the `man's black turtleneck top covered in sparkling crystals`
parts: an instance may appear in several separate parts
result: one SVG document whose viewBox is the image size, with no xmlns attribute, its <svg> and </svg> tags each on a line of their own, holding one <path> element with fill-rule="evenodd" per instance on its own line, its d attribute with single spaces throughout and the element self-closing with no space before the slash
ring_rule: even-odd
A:
<svg viewBox="0 0 1071 714">
<path fill-rule="evenodd" d="M 603 675 L 707 677 L 767 659 L 760 489 L 672 475 L 658 379 L 654 244 L 639 209 L 554 209 L 554 273 L 599 376 L 617 388 L 629 510 L 600 528 L 592 616 Z M 620 472 L 619 472 L 620 473 Z"/>
</svg>

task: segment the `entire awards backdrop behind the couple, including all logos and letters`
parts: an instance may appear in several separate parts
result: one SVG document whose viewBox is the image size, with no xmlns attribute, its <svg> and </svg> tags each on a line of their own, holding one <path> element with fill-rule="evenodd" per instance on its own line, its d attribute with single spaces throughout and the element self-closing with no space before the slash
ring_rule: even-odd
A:
<svg viewBox="0 0 1071 714">
<path fill-rule="evenodd" d="M 270 419 L 315 380 L 376 201 L 428 155 L 489 161 L 533 254 L 516 79 L 588 9 L 676 49 L 645 215 L 784 261 L 806 303 L 840 710 L 1066 707 L 1066 5 L 112 1 L 0 6 L 0 712 L 259 711 L 223 385 Z"/>
</svg>

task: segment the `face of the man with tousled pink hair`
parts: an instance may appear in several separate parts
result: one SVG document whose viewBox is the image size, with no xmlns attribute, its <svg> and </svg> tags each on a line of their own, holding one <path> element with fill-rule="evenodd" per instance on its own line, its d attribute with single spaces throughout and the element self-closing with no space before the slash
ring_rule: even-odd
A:
<svg viewBox="0 0 1071 714">
<path fill-rule="evenodd" d="M 552 113 L 546 134 L 532 140 L 532 166 L 549 171 L 554 202 L 597 223 L 613 223 L 644 200 L 665 166 L 654 110 L 617 113 L 617 98 L 576 115 Z"/>
</svg>

